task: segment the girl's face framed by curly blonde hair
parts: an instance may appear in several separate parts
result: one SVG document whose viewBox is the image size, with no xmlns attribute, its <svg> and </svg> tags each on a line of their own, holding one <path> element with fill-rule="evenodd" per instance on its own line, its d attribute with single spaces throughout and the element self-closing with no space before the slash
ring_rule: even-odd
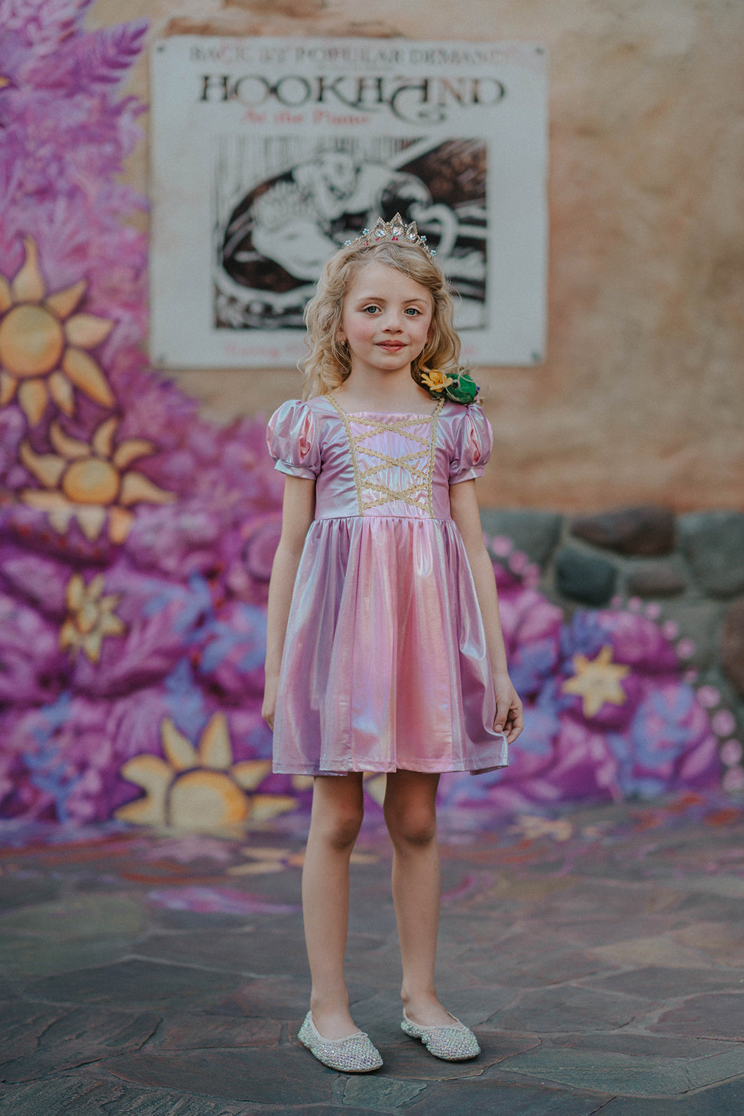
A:
<svg viewBox="0 0 744 1116">
<path fill-rule="evenodd" d="M 359 268 L 344 299 L 339 340 L 348 341 L 351 372 L 410 368 L 432 328 L 426 287 L 386 263 Z"/>
</svg>

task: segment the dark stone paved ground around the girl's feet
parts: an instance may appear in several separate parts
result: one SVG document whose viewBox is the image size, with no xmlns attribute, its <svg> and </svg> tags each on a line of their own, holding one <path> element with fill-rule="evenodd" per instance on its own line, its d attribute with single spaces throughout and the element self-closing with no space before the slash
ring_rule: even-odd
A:
<svg viewBox="0 0 744 1116">
<path fill-rule="evenodd" d="M 740 807 L 522 817 L 443 835 L 439 990 L 483 1052 L 398 1028 L 389 852 L 358 845 L 348 971 L 376 1074 L 297 1042 L 303 819 L 242 840 L 6 830 L 0 1113 L 735 1116 L 744 1112 Z"/>
</svg>

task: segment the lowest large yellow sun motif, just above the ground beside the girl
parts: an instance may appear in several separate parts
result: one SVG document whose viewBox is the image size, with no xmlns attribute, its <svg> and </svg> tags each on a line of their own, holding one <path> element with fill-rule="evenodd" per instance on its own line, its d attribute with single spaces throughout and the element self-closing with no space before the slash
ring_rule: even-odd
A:
<svg viewBox="0 0 744 1116">
<path fill-rule="evenodd" d="M 119 821 L 172 826 L 196 833 L 242 829 L 297 807 L 287 795 L 251 795 L 271 771 L 271 760 L 233 763 L 228 722 L 215 713 L 205 725 L 199 749 L 178 732 L 170 718 L 161 723 L 165 759 L 135 756 L 120 773 L 145 790 L 143 798 L 115 811 Z"/>
</svg>

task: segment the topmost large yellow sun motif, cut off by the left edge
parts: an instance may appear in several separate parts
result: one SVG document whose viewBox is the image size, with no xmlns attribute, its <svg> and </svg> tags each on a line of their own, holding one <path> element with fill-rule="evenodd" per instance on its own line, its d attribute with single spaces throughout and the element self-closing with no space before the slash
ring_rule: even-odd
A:
<svg viewBox="0 0 744 1116">
<path fill-rule="evenodd" d="M 32 426 L 49 396 L 71 415 L 74 387 L 113 407 L 116 401 L 106 376 L 86 349 L 100 345 L 114 323 L 95 314 L 73 314 L 86 292 L 86 279 L 47 295 L 36 243 L 30 238 L 23 243 L 26 260 L 16 277 L 9 281 L 0 275 L 0 406 L 17 396 Z"/>
</svg>

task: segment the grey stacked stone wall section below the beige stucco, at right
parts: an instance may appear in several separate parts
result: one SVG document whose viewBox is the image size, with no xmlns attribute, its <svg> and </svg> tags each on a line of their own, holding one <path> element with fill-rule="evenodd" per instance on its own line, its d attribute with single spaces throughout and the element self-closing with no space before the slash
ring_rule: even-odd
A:
<svg viewBox="0 0 744 1116">
<path fill-rule="evenodd" d="M 744 734 L 744 514 L 618 508 L 592 516 L 535 509 L 481 512 L 494 556 L 540 570 L 570 617 L 625 608 L 656 620 L 711 710 L 731 790 L 741 789 Z M 724 780 L 726 782 L 726 779 Z"/>
</svg>

